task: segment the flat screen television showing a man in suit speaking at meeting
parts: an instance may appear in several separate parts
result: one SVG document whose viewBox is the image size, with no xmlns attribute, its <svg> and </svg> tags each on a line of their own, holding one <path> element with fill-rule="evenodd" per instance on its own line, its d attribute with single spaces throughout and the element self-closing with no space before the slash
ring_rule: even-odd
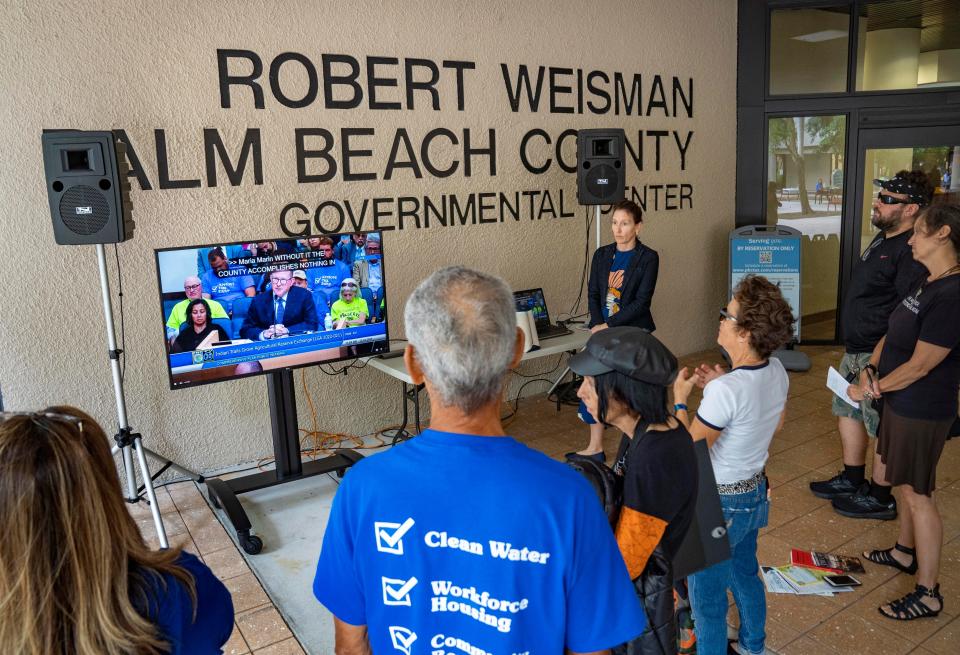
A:
<svg viewBox="0 0 960 655">
<path fill-rule="evenodd" d="M 171 389 L 389 350 L 379 232 L 154 253 Z"/>
</svg>

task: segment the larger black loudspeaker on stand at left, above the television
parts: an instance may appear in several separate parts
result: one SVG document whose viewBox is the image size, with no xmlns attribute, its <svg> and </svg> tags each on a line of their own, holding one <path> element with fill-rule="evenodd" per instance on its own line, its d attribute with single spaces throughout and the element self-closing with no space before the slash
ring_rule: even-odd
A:
<svg viewBox="0 0 960 655">
<path fill-rule="evenodd" d="M 113 132 L 44 130 L 41 141 L 56 242 L 133 238 L 126 146 Z"/>
</svg>

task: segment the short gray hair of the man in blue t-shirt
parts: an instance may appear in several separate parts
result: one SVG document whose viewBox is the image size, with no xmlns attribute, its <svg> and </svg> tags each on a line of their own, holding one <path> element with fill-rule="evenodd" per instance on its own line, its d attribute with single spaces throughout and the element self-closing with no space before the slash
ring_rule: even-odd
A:
<svg viewBox="0 0 960 655">
<path fill-rule="evenodd" d="M 471 413 L 499 399 L 517 340 L 506 282 L 462 266 L 442 268 L 414 290 L 404 322 L 444 405 Z"/>
</svg>

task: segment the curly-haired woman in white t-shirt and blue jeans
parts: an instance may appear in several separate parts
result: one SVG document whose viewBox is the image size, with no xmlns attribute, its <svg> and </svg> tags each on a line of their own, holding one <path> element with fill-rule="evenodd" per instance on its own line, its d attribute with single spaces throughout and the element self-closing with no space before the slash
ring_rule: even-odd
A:
<svg viewBox="0 0 960 655">
<path fill-rule="evenodd" d="M 738 651 L 766 652 L 767 604 L 757 575 L 757 536 L 770 509 L 763 467 L 770 441 L 783 426 L 790 384 L 770 353 L 792 336 L 793 322 L 780 289 L 748 275 L 720 310 L 717 342 L 730 355 L 731 371 L 701 366 L 691 376 L 684 369 L 673 386 L 677 418 L 710 448 L 731 549 L 729 560 L 687 578 L 698 652 L 726 652 L 727 589 L 740 614 Z M 694 384 L 704 385 L 703 401 L 691 420 L 686 403 Z"/>
</svg>

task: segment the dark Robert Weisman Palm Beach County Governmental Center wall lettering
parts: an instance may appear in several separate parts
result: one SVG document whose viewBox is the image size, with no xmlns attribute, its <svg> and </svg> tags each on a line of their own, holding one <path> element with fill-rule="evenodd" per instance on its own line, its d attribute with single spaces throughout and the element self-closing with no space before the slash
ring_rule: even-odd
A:
<svg viewBox="0 0 960 655">
<path fill-rule="evenodd" d="M 361 200 L 324 198 L 324 184 L 376 183 L 389 189 L 405 180 L 497 178 L 504 158 L 516 158 L 531 179 L 558 172 L 576 174 L 576 129 L 551 131 L 536 126 L 538 114 L 598 117 L 591 127 L 616 127 L 618 117 L 677 120 L 677 129 L 627 129 L 627 197 L 645 211 L 693 207 L 693 184 L 631 185 L 631 177 L 666 169 L 665 160 L 687 170 L 694 131 L 682 127 L 693 118 L 693 79 L 647 73 L 584 70 L 528 64 L 499 64 L 500 95 L 468 97 L 472 76 L 481 75 L 476 62 L 421 58 L 355 57 L 322 54 L 311 59 L 284 52 L 265 60 L 251 50 L 216 52 L 220 107 L 265 111 L 322 113 L 323 126 L 292 130 L 296 182 L 302 198 L 290 199 L 278 210 L 280 228 L 289 236 L 363 230 L 405 230 L 497 224 L 574 216 L 573 193 L 564 188 L 477 189 L 434 195 L 375 195 Z M 496 72 L 490 72 L 496 75 Z M 282 75 L 282 76 L 281 76 Z M 293 80 L 293 81 L 291 81 Z M 450 92 L 450 97 L 444 91 Z M 517 116 L 529 116 L 530 127 L 519 128 L 515 142 L 504 142 L 494 127 L 432 127 L 422 134 L 406 128 L 332 127 L 337 112 L 419 112 L 438 115 L 463 112 L 471 104 L 490 107 L 504 103 Z M 236 130 L 230 130 L 235 133 Z M 140 188 L 154 189 L 134 143 L 127 144 L 130 176 Z M 387 145 L 389 144 L 389 145 Z M 165 129 L 154 129 L 156 188 L 191 189 L 257 186 L 265 182 L 264 149 L 259 127 L 246 127 L 242 142 L 227 144 L 217 128 L 203 130 L 203 178 L 171 177 L 175 153 L 167 147 Z M 176 162 L 178 170 L 184 170 Z M 266 167 L 272 175 L 289 175 L 289 166 Z M 392 183 L 392 184 L 384 184 Z M 489 184 L 484 182 L 484 185 Z M 515 183 L 514 183 L 515 184 Z M 536 187 L 536 184 L 530 185 Z M 307 200 L 307 198 L 312 198 Z"/>
</svg>

